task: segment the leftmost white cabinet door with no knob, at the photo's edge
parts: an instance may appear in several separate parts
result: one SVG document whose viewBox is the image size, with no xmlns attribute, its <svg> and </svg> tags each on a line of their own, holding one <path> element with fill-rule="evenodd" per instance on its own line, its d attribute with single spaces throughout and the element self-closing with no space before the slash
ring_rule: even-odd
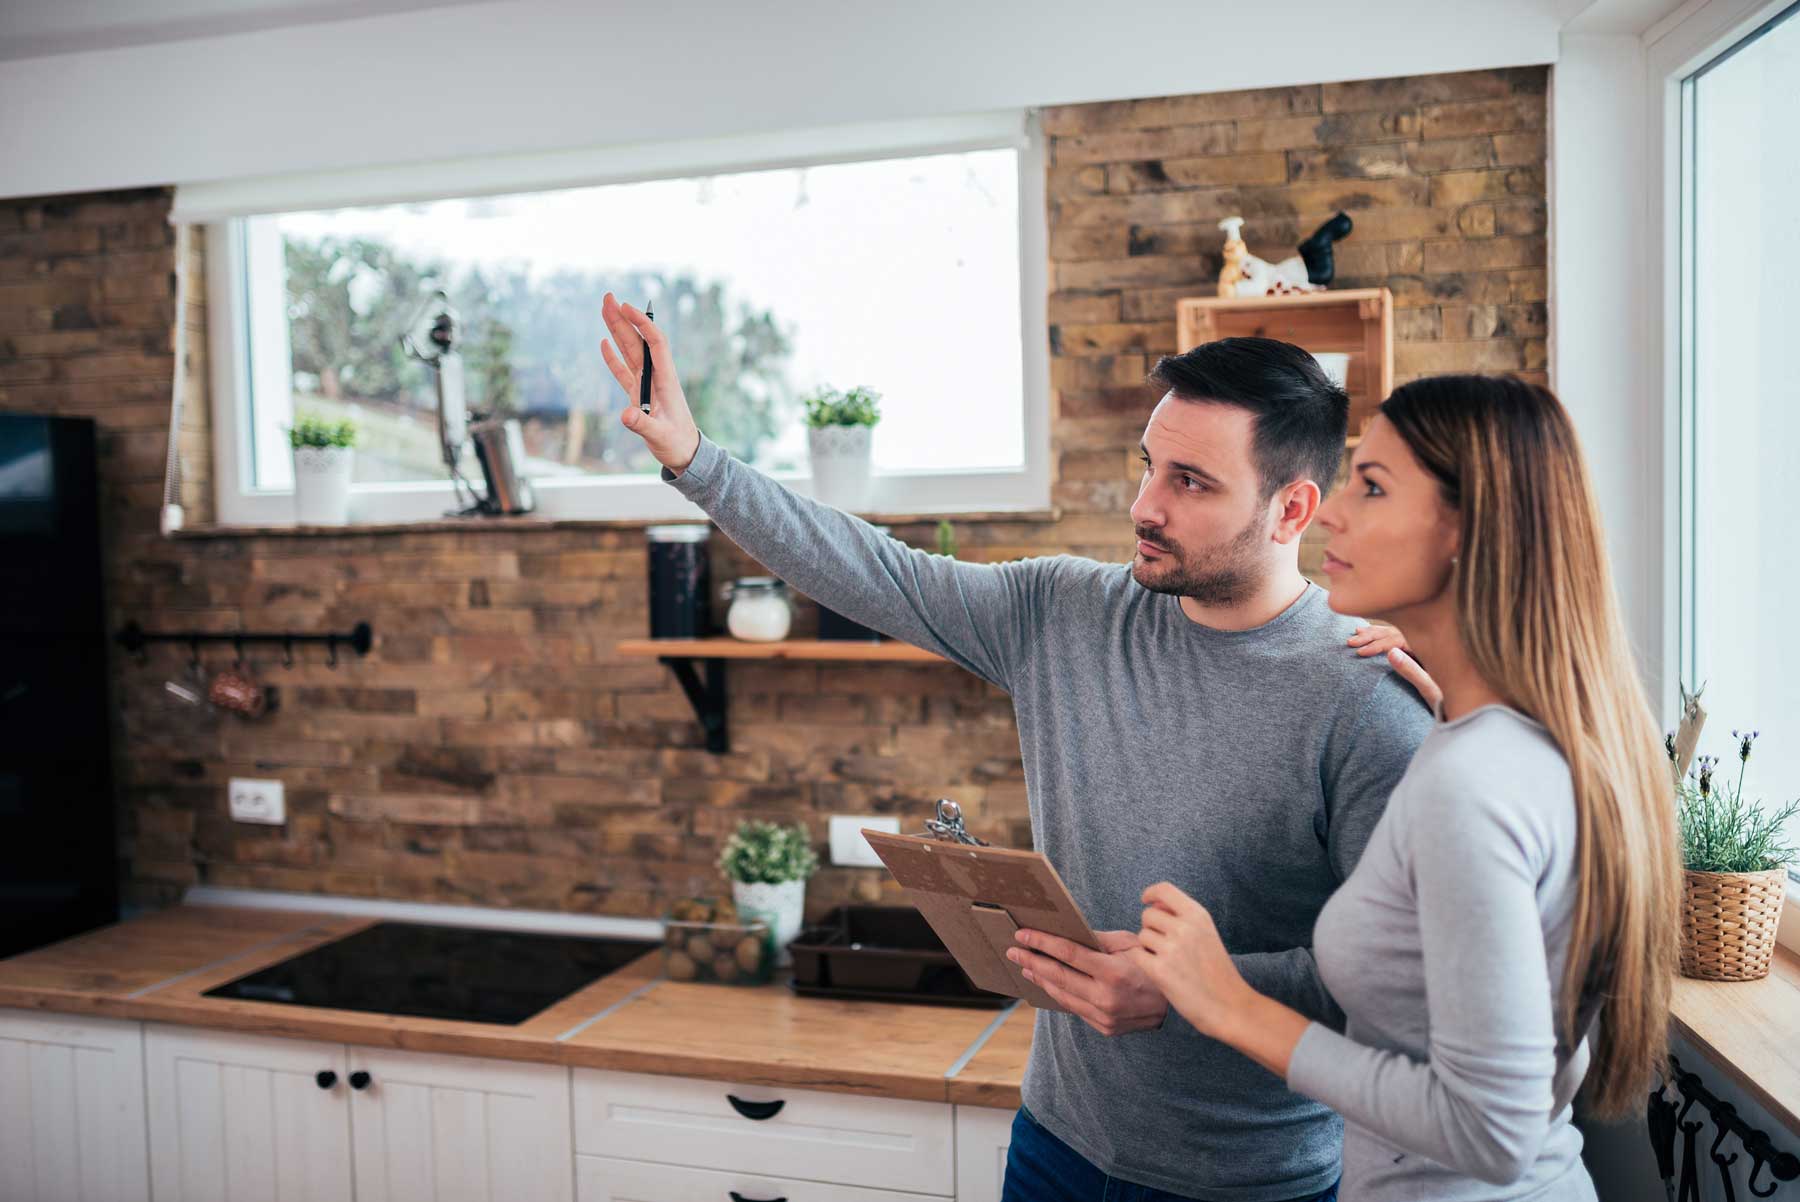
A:
<svg viewBox="0 0 1800 1202">
<path fill-rule="evenodd" d="M 148 1197 L 139 1024 L 0 1009 L 0 1198 Z"/>
</svg>

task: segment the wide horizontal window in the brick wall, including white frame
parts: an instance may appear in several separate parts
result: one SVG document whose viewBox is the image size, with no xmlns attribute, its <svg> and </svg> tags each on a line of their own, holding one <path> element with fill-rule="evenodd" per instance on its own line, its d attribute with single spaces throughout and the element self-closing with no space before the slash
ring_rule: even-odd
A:
<svg viewBox="0 0 1800 1202">
<path fill-rule="evenodd" d="M 356 423 L 353 520 L 454 507 L 434 376 L 400 349 L 434 290 L 468 407 L 520 421 L 545 516 L 695 515 L 617 421 L 608 290 L 653 306 L 700 428 L 801 489 L 801 398 L 869 385 L 871 511 L 1049 502 L 1042 157 L 1021 113 L 196 185 L 176 220 L 209 227 L 227 524 L 292 520 L 297 416 Z M 479 482 L 472 452 L 463 471 Z"/>
</svg>

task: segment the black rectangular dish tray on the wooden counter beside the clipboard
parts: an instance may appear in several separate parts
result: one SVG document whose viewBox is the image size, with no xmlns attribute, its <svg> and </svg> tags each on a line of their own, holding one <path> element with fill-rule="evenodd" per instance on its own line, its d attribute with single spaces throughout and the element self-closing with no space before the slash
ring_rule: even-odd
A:
<svg viewBox="0 0 1800 1202">
<path fill-rule="evenodd" d="M 794 991 L 932 1006 L 1008 1006 L 977 990 L 925 916 L 911 905 L 841 905 L 788 945 Z"/>
</svg>

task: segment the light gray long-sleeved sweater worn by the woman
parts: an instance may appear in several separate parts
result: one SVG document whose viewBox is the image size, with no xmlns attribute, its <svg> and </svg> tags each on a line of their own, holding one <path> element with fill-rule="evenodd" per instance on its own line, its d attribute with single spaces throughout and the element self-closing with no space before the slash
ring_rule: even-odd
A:
<svg viewBox="0 0 1800 1202">
<path fill-rule="evenodd" d="M 1345 1116 L 1345 1202 L 1595 1197 L 1570 1123 L 1588 1044 L 1553 1015 L 1575 903 L 1575 794 L 1539 723 L 1438 722 L 1319 912 L 1348 1024 L 1312 1024 L 1287 1083 Z"/>
</svg>

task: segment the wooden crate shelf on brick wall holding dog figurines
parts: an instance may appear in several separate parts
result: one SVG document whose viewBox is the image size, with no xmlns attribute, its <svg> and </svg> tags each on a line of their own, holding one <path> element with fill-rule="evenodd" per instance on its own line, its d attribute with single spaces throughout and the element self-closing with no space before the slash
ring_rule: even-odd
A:
<svg viewBox="0 0 1800 1202">
<path fill-rule="evenodd" d="M 1393 293 L 1386 288 L 1289 297 L 1184 297 L 1175 302 L 1181 347 L 1215 338 L 1280 338 L 1312 353 L 1350 356 L 1350 435 L 1361 437 L 1393 392 Z"/>
</svg>

